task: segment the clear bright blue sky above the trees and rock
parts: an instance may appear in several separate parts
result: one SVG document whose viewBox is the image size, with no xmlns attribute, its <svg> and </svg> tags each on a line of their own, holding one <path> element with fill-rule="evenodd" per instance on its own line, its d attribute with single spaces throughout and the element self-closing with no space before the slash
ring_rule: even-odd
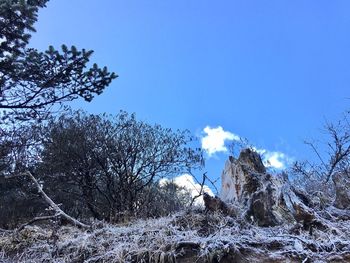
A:
<svg viewBox="0 0 350 263">
<path fill-rule="evenodd" d="M 74 107 L 136 112 L 199 136 L 220 126 L 219 137 L 303 159 L 303 140 L 349 108 L 349 12 L 347 0 L 51 0 L 31 45 L 93 49 L 119 74 Z M 208 156 L 212 177 L 226 158 Z"/>
</svg>

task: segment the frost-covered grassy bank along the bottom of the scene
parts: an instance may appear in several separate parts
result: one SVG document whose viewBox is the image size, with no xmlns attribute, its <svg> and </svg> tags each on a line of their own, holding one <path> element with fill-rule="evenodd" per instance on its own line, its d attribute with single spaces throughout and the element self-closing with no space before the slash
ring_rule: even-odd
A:
<svg viewBox="0 0 350 263">
<path fill-rule="evenodd" d="M 91 230 L 31 226 L 20 233 L 0 233 L 0 262 L 350 260 L 349 222 L 329 224 L 329 229 L 310 235 L 303 229 L 292 233 L 292 226 L 262 228 L 219 214 L 190 212 L 128 225 L 99 222 Z"/>
</svg>

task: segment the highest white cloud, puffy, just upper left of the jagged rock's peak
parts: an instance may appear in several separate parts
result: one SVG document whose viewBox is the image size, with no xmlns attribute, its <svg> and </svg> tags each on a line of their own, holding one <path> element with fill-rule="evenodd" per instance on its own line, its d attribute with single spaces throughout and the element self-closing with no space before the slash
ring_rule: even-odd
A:
<svg viewBox="0 0 350 263">
<path fill-rule="evenodd" d="M 207 152 L 207 154 L 212 156 L 217 152 L 227 152 L 225 146 L 225 141 L 239 141 L 240 137 L 231 132 L 225 131 L 221 126 L 216 128 L 211 128 L 209 126 L 205 127 L 203 132 L 206 134 L 202 137 L 202 149 Z"/>
</svg>

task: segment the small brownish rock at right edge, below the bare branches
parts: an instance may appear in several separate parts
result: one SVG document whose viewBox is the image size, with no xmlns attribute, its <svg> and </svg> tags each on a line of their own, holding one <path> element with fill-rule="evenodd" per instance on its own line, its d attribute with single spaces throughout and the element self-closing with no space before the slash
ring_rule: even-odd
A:
<svg viewBox="0 0 350 263">
<path fill-rule="evenodd" d="M 332 178 L 333 178 L 335 192 L 336 192 L 334 206 L 339 209 L 349 209 L 350 208 L 350 174 L 335 173 Z"/>
</svg>

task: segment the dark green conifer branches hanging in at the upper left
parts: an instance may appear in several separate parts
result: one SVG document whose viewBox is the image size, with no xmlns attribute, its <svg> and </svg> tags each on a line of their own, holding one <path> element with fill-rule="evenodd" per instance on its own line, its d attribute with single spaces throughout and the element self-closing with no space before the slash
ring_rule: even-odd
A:
<svg viewBox="0 0 350 263">
<path fill-rule="evenodd" d="M 91 101 L 116 78 L 106 67 L 87 68 L 93 51 L 62 45 L 45 52 L 27 48 L 38 8 L 47 1 L 0 2 L 0 109 L 3 118 L 45 119 L 54 105 Z M 57 110 L 57 108 L 56 108 Z"/>
</svg>

